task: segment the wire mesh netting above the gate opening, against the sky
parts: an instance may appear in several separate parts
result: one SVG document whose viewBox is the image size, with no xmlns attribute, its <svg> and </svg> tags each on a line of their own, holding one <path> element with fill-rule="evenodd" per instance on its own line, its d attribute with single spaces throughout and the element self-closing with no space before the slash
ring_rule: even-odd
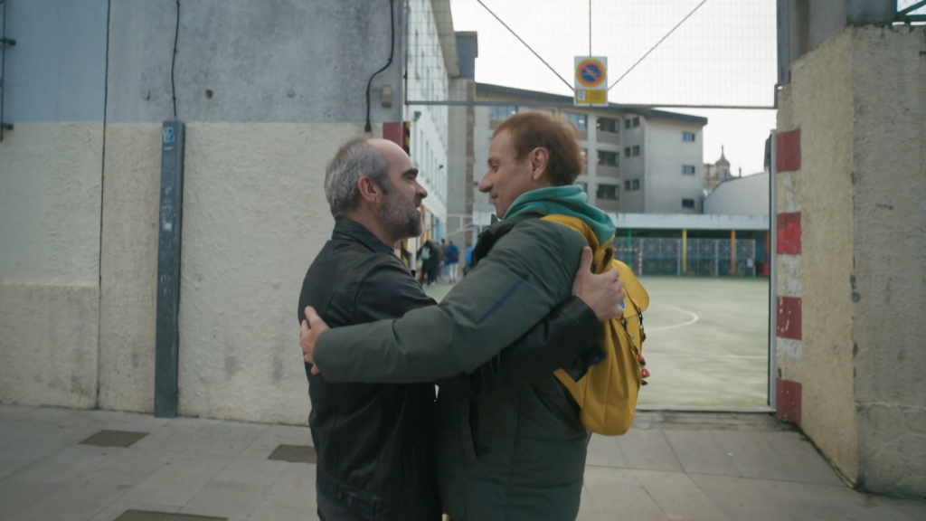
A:
<svg viewBox="0 0 926 521">
<path fill-rule="evenodd" d="M 572 95 L 573 58 L 597 56 L 607 57 L 611 103 L 774 106 L 776 0 L 408 0 L 407 6 L 410 105 L 451 99 L 450 34 L 477 32 L 479 83 Z"/>
</svg>

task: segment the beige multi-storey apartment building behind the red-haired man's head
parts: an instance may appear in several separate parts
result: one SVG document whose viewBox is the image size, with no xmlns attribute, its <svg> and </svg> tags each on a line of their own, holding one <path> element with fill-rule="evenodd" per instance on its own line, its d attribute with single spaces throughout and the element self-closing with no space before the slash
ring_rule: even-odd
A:
<svg viewBox="0 0 926 521">
<path fill-rule="evenodd" d="M 492 132 L 509 116 L 544 110 L 576 126 L 585 156 L 577 184 L 601 210 L 613 213 L 700 213 L 704 198 L 704 146 L 707 119 L 650 108 L 612 104 L 572 107 L 565 95 L 476 84 L 476 99 L 493 103 L 476 108 L 474 155 L 482 178 Z M 474 186 L 474 190 L 475 190 Z M 483 194 L 474 195 L 473 221 L 485 224 L 493 212 Z"/>
</svg>

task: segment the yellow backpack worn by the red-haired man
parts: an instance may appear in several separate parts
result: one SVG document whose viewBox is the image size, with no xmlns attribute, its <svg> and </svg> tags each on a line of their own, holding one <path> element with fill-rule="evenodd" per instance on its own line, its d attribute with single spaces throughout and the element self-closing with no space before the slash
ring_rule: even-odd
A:
<svg viewBox="0 0 926 521">
<path fill-rule="evenodd" d="M 557 222 L 582 234 L 594 251 L 594 273 L 614 268 L 624 281 L 623 316 L 605 323 L 602 348 L 606 358 L 589 367 L 588 372 L 573 380 L 559 369 L 554 375 L 569 389 L 582 407 L 580 419 L 588 430 L 605 436 L 618 436 L 627 432 L 636 412 L 637 396 L 643 383 L 643 311 L 649 307 L 649 295 L 633 274 L 630 266 L 614 259 L 613 237 L 606 244 L 598 244 L 592 227 L 577 217 L 547 215 L 545 221 Z"/>
</svg>

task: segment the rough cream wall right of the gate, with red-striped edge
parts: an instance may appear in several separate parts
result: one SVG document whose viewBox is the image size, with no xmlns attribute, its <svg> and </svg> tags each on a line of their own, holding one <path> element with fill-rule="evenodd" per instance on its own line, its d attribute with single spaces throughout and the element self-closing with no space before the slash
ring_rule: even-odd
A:
<svg viewBox="0 0 926 521">
<path fill-rule="evenodd" d="M 801 301 L 803 325 L 779 338 L 778 355 L 782 378 L 803 388 L 801 424 L 858 485 L 918 497 L 926 495 L 923 53 L 922 27 L 869 26 L 796 61 L 778 126 L 789 132 L 784 156 L 798 159 L 786 159 L 792 168 L 777 180 L 778 211 L 799 222 L 785 233 L 797 253 L 782 254 L 780 242 L 778 289 Z"/>
</svg>

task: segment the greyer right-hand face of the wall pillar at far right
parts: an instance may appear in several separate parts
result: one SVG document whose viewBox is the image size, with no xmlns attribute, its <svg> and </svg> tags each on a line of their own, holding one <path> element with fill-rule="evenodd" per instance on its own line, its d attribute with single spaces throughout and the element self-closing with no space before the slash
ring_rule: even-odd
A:
<svg viewBox="0 0 926 521">
<path fill-rule="evenodd" d="M 926 28 L 865 28 L 852 35 L 858 480 L 869 489 L 922 498 Z"/>
</svg>

